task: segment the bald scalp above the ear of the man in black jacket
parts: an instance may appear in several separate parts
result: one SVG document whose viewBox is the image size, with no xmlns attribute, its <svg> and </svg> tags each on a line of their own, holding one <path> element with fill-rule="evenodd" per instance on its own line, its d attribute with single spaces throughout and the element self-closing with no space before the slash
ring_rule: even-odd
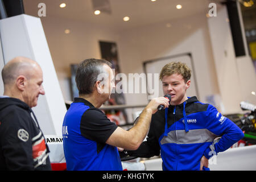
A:
<svg viewBox="0 0 256 182">
<path fill-rule="evenodd" d="M 14 84 L 16 78 L 20 75 L 30 78 L 34 73 L 34 69 L 40 69 L 36 61 L 27 57 L 15 57 L 10 60 L 2 70 L 2 79 L 4 85 Z"/>
</svg>

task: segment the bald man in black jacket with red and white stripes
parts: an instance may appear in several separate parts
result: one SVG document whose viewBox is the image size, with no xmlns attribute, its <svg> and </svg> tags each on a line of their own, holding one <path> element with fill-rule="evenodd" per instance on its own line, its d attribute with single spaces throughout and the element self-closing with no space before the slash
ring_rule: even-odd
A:
<svg viewBox="0 0 256 182">
<path fill-rule="evenodd" d="M 3 67 L 2 79 L 0 170 L 51 170 L 49 149 L 31 110 L 44 94 L 42 69 L 34 60 L 15 57 Z"/>
</svg>

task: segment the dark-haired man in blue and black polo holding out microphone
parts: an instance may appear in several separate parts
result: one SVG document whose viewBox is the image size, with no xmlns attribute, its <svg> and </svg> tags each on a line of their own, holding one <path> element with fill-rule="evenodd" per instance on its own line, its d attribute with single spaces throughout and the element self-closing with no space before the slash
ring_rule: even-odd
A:
<svg viewBox="0 0 256 182">
<path fill-rule="evenodd" d="M 68 170 L 122 170 L 117 147 L 136 150 L 146 137 L 151 115 L 159 105 L 169 106 L 167 98 L 154 98 L 130 130 L 115 125 L 98 109 L 109 100 L 115 87 L 111 66 L 105 60 L 86 59 L 77 68 L 79 98 L 75 98 L 63 121 L 63 147 Z"/>
</svg>

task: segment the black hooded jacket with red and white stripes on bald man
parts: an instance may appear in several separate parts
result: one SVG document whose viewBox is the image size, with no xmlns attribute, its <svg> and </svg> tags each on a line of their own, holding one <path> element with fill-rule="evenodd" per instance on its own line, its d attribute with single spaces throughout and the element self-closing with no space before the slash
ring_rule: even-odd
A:
<svg viewBox="0 0 256 182">
<path fill-rule="evenodd" d="M 16 98 L 0 98 L 0 170 L 51 170 L 48 155 L 31 108 Z"/>
</svg>

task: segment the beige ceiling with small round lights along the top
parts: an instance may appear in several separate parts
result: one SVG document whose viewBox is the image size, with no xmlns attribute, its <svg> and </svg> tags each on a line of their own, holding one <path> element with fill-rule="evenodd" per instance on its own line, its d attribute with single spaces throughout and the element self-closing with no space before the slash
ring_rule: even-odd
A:
<svg viewBox="0 0 256 182">
<path fill-rule="evenodd" d="M 38 16 L 38 4 L 46 4 L 44 20 L 54 18 L 81 21 L 82 23 L 101 24 L 107 28 L 123 30 L 165 20 L 185 18 L 209 11 L 209 0 L 109 0 L 111 14 L 94 15 L 92 0 L 23 0 L 24 11 L 28 15 Z M 60 8 L 61 3 L 66 7 Z M 182 9 L 176 9 L 176 5 Z M 124 16 L 130 16 L 123 22 Z"/>
</svg>

